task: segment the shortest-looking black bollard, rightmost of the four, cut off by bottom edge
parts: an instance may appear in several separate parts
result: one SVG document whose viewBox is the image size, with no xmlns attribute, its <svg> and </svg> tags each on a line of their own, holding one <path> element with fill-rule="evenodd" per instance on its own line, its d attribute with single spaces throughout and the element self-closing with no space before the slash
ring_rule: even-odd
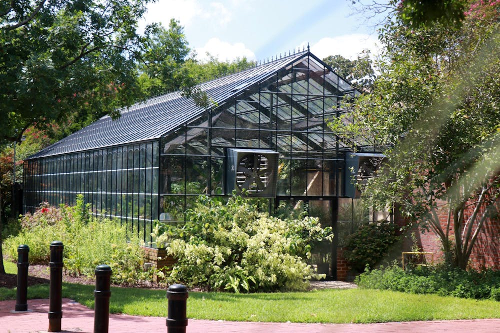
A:
<svg viewBox="0 0 500 333">
<path fill-rule="evenodd" d="M 187 326 L 186 308 L 189 294 L 183 285 L 171 285 L 166 291 L 168 299 L 167 333 L 185 333 Z"/>
</svg>

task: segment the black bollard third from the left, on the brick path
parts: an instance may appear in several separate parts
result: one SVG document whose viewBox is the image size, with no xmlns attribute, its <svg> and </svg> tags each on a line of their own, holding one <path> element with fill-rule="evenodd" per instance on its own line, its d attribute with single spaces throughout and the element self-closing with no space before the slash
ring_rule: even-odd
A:
<svg viewBox="0 0 500 333">
<path fill-rule="evenodd" d="M 111 273 L 111 268 L 107 265 L 99 265 L 95 268 L 94 333 L 107 333 L 109 328 Z"/>
</svg>

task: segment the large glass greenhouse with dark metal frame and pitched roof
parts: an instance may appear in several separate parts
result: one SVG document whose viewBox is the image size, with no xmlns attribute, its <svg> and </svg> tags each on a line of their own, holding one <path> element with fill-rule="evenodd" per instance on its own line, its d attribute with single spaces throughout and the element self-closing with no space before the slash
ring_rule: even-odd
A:
<svg viewBox="0 0 500 333">
<path fill-rule="evenodd" d="M 93 214 L 120 219 L 148 244 L 155 221 L 182 222 L 200 194 L 243 192 L 265 200 L 269 211 L 306 207 L 341 233 L 339 207 L 350 205 L 354 216 L 351 173 L 376 154 L 362 144 L 351 154 L 327 123 L 359 92 L 309 50 L 198 88 L 208 107 L 167 93 L 30 156 L 24 212 L 44 201 L 74 205 L 81 193 Z M 333 278 L 337 242 L 325 250 Z"/>
</svg>

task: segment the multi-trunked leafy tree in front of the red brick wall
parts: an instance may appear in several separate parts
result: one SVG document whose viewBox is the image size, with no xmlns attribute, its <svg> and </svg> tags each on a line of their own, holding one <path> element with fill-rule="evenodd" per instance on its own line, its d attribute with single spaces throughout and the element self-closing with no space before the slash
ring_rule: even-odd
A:
<svg viewBox="0 0 500 333">
<path fill-rule="evenodd" d="M 468 5 L 461 25 L 418 27 L 395 8 L 380 29 L 386 49 L 372 93 L 334 125 L 387 156 L 364 188 L 368 203 L 397 203 L 462 269 L 500 196 L 500 3 Z"/>
</svg>

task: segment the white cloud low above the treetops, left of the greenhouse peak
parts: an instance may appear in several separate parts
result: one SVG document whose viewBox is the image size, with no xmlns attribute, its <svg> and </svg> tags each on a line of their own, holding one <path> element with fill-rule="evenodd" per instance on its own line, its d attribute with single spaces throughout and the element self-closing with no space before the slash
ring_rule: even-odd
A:
<svg viewBox="0 0 500 333">
<path fill-rule="evenodd" d="M 255 53 L 248 49 L 243 43 L 228 43 L 218 38 L 210 38 L 203 47 L 197 47 L 196 59 L 207 60 L 206 52 L 217 58 L 219 61 L 231 61 L 237 57 L 246 57 L 249 60 L 255 60 Z"/>
</svg>

